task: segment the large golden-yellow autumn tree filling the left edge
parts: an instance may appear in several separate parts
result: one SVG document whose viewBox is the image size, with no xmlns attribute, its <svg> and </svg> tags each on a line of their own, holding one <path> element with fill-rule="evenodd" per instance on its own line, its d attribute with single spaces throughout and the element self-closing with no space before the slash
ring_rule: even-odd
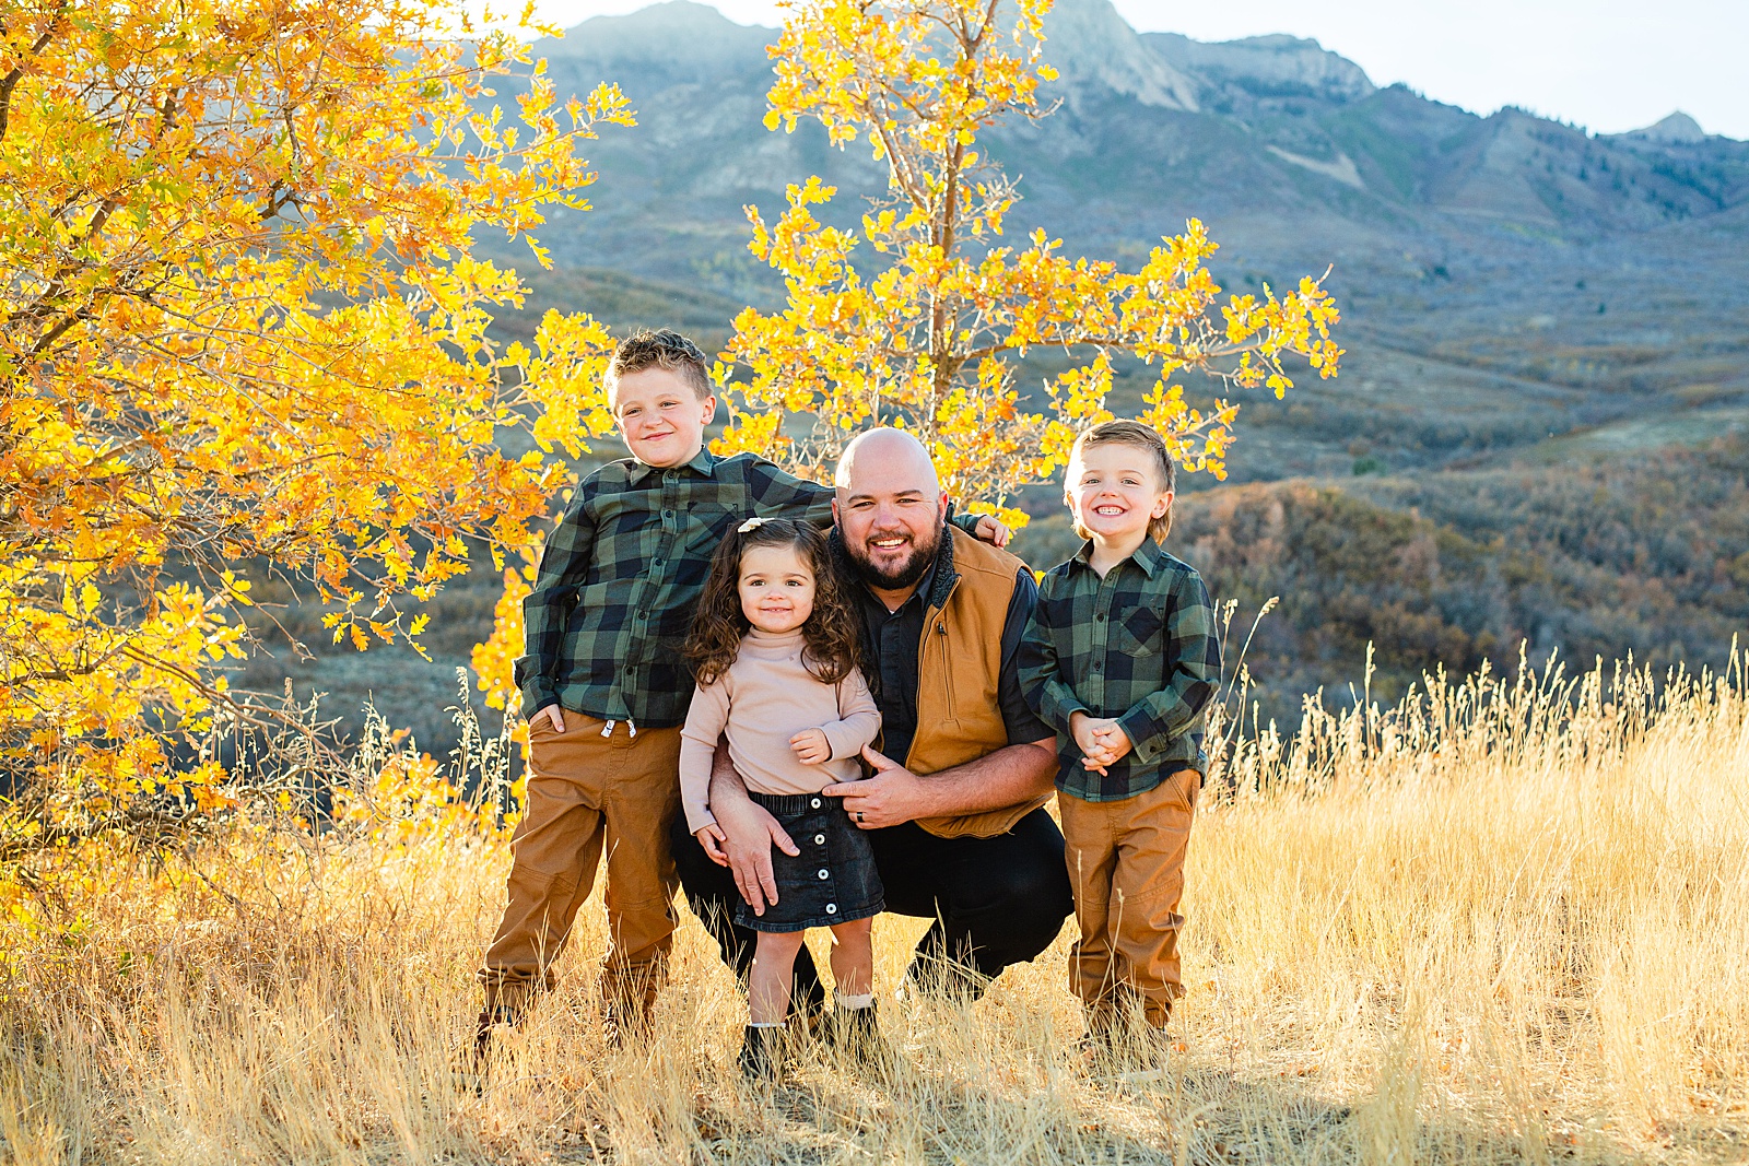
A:
<svg viewBox="0 0 1749 1166">
<path fill-rule="evenodd" d="M 0 9 L 16 829 L 126 823 L 166 790 L 224 804 L 217 759 L 171 764 L 171 743 L 269 715 L 224 671 L 248 635 L 240 565 L 303 580 L 338 643 L 416 640 L 469 538 L 530 540 L 565 474 L 542 449 L 605 428 L 577 392 L 600 325 L 549 313 L 532 350 L 486 334 L 523 290 L 474 238 L 588 206 L 575 145 L 631 122 L 612 86 L 560 100 L 518 28 L 439 0 Z M 502 453 L 511 427 L 539 448 Z"/>
</svg>

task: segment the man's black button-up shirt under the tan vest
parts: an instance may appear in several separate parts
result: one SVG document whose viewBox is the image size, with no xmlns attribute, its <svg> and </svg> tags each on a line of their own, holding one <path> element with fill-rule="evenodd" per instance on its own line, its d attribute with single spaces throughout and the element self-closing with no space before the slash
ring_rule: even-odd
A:
<svg viewBox="0 0 1749 1166">
<path fill-rule="evenodd" d="M 854 577 L 852 566 L 843 559 L 840 565 Z M 916 664 L 923 640 L 923 621 L 930 600 L 936 598 L 937 582 L 943 586 L 939 600 L 946 601 L 946 587 L 951 586 L 953 579 L 953 544 L 943 533 L 941 551 L 936 552 L 929 573 L 916 584 L 911 598 L 899 605 L 897 612 L 888 612 L 887 605 L 876 600 L 861 580 L 850 587 L 862 612 L 866 673 L 874 689 L 874 704 L 880 706 L 880 752 L 899 764 L 904 764 L 906 753 L 911 752 L 911 739 L 916 736 Z M 1027 704 L 1020 685 L 1020 642 L 1027 635 L 1027 621 L 1032 617 L 1032 605 L 1037 598 L 1039 586 L 1034 582 L 1032 572 L 1020 568 L 1014 596 L 1007 601 L 1007 615 L 1002 621 L 1002 671 L 997 680 L 997 704 L 1002 710 L 1002 725 L 1007 729 L 1009 745 L 1044 741 L 1053 736 L 1051 727 L 1039 720 Z"/>
</svg>

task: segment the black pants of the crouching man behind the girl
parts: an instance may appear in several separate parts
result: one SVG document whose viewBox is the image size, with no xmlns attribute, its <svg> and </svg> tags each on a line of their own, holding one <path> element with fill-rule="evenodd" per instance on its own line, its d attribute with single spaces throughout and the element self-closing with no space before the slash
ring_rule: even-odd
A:
<svg viewBox="0 0 1749 1166">
<path fill-rule="evenodd" d="M 1051 815 L 1035 809 L 995 837 L 936 837 L 916 823 L 869 830 L 874 865 L 887 888 L 887 909 L 934 920 L 916 944 L 909 979 L 976 996 L 1009 963 L 1025 963 L 1051 946 L 1074 911 L 1063 834 Z M 673 827 L 673 858 L 693 913 L 722 949 L 722 961 L 745 979 L 756 932 L 733 923 L 735 876 Z M 826 1000 L 813 956 L 796 954 L 798 1010 Z"/>
</svg>

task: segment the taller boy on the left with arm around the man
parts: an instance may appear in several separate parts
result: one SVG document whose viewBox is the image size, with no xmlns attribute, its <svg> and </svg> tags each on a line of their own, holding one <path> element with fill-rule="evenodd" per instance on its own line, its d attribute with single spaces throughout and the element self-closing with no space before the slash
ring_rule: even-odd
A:
<svg viewBox="0 0 1749 1166">
<path fill-rule="evenodd" d="M 680 804 L 680 725 L 693 696 L 682 647 L 722 535 L 750 514 L 831 523 L 833 489 L 752 455 L 717 458 L 705 353 L 679 332 L 638 332 L 607 367 L 607 402 L 631 458 L 577 486 L 523 601 L 516 682 L 528 717 L 528 794 L 511 839 L 509 904 L 479 970 L 495 1023 L 516 1023 L 589 897 L 607 851 L 609 1035 L 642 1031 L 675 928 L 668 827 Z M 992 517 L 957 519 L 1006 542 Z"/>
</svg>

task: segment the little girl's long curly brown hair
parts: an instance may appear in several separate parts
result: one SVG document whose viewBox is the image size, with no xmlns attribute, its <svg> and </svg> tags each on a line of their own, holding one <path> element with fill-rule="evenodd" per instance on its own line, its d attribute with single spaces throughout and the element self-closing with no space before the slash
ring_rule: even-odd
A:
<svg viewBox="0 0 1749 1166">
<path fill-rule="evenodd" d="M 787 517 L 766 519 L 752 530 L 731 530 L 710 559 L 710 579 L 693 617 L 686 657 L 703 687 L 714 685 L 735 663 L 742 636 L 752 628 L 742 612 L 742 556 L 749 547 L 792 547 L 813 572 L 813 612 L 801 626 L 801 663 L 820 684 L 838 684 L 859 663 L 861 635 L 826 535 Z"/>
</svg>

